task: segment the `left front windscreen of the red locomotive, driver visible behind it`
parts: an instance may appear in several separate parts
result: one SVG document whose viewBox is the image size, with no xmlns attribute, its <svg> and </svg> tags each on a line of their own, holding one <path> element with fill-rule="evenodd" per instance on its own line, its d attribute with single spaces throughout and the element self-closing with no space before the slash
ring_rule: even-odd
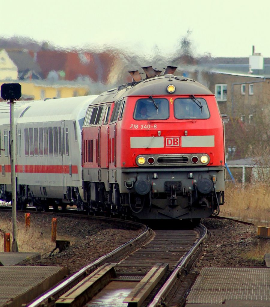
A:
<svg viewBox="0 0 270 307">
<path fill-rule="evenodd" d="M 168 119 L 169 102 L 167 99 L 138 99 L 135 105 L 133 118 L 145 119 Z"/>
</svg>

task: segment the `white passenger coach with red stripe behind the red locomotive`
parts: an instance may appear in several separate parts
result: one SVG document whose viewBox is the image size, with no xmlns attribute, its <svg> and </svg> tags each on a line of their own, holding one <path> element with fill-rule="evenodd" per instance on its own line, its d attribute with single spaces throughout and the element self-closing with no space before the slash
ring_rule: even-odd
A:
<svg viewBox="0 0 270 307">
<path fill-rule="evenodd" d="M 97 96 L 22 101 L 14 105 L 17 203 L 47 210 L 81 200 L 81 130 Z M 0 199 L 11 200 L 10 108 L 0 103 Z M 29 176 L 30 175 L 30 176 Z"/>
</svg>

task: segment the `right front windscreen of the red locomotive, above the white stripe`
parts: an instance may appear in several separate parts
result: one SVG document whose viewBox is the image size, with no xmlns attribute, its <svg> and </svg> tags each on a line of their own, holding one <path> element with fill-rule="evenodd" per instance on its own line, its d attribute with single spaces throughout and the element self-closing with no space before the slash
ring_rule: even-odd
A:
<svg viewBox="0 0 270 307">
<path fill-rule="evenodd" d="M 203 98 L 177 98 L 174 100 L 176 119 L 208 119 L 210 113 Z"/>
</svg>

